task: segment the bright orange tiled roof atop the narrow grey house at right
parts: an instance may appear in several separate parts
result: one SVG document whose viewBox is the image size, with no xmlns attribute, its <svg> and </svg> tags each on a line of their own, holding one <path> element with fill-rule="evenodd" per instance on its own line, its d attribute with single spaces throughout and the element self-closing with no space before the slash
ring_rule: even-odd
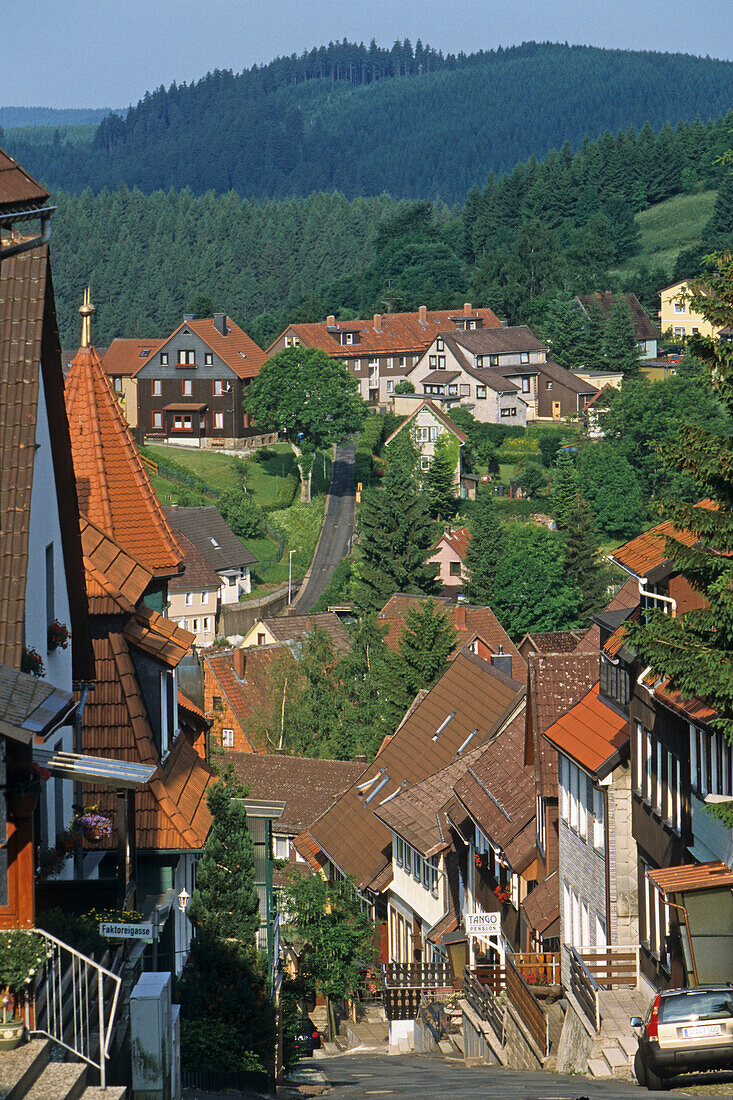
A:
<svg viewBox="0 0 733 1100">
<path fill-rule="evenodd" d="M 628 743 L 628 718 L 599 696 L 599 685 L 545 732 L 547 740 L 581 768 L 597 773 Z"/>
</svg>

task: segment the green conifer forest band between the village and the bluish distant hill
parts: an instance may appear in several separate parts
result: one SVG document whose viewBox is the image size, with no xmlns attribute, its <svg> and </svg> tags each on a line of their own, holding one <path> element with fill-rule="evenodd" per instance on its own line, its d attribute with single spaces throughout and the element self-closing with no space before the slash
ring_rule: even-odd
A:
<svg viewBox="0 0 733 1100">
<path fill-rule="evenodd" d="M 733 183 L 718 163 L 733 112 L 718 122 L 649 124 L 569 143 L 544 161 L 489 176 L 463 206 L 339 193 L 284 201 L 121 185 L 57 193 L 54 273 L 65 346 L 78 339 L 90 283 L 99 344 L 171 331 L 198 299 L 225 309 L 266 346 L 288 321 L 452 308 L 466 298 L 512 323 L 541 324 L 558 296 L 632 289 L 652 316 L 658 290 L 698 271 L 733 233 Z M 703 241 L 676 268 L 634 262 L 634 215 L 678 194 L 720 188 Z M 631 260 L 630 260 L 631 257 Z M 622 280 L 615 268 L 625 262 Z"/>
</svg>

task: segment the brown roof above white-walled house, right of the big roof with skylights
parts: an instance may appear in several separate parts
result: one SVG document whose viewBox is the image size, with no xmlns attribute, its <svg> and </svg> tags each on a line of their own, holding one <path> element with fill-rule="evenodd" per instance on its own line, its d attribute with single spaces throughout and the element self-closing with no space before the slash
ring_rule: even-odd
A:
<svg viewBox="0 0 733 1100">
<path fill-rule="evenodd" d="M 402 794 L 374 811 L 374 816 L 397 833 L 423 856 L 435 856 L 450 844 L 444 807 L 455 784 L 480 757 L 482 748 L 469 748 L 445 768 L 420 783 L 405 787 Z"/>
</svg>

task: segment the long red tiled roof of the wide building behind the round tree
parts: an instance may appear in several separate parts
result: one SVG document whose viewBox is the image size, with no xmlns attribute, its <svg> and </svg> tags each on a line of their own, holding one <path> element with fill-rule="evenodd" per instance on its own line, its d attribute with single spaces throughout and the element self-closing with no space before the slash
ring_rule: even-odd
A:
<svg viewBox="0 0 733 1100">
<path fill-rule="evenodd" d="M 491 309 L 472 309 L 462 314 L 456 309 L 427 310 L 425 320 L 419 312 L 415 314 L 382 314 L 379 330 L 374 320 L 337 321 L 333 329 L 358 330 L 359 343 L 341 345 L 329 331 L 326 321 L 311 324 L 288 324 L 286 331 L 295 332 L 300 343 L 307 348 L 320 348 L 329 355 L 339 359 L 353 359 L 369 354 L 403 354 L 425 351 L 437 336 L 456 332 L 456 317 L 482 318 L 488 328 L 500 328 L 501 321 Z M 282 334 L 282 333 L 281 333 Z M 280 337 L 277 338 L 280 339 Z M 276 341 L 275 341 L 276 342 Z M 271 344 L 272 348 L 272 344 Z M 271 348 L 267 353 L 271 353 Z"/>
</svg>

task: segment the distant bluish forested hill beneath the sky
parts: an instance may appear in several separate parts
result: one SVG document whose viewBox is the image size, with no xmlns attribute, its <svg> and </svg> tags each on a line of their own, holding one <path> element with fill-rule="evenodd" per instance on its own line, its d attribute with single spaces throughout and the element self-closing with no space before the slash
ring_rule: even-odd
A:
<svg viewBox="0 0 733 1100">
<path fill-rule="evenodd" d="M 147 94 L 91 144 L 6 145 L 54 188 L 190 188 L 282 198 L 462 199 L 568 141 L 645 122 L 718 118 L 733 63 L 525 43 L 444 57 L 417 44 L 340 45 Z"/>
</svg>

